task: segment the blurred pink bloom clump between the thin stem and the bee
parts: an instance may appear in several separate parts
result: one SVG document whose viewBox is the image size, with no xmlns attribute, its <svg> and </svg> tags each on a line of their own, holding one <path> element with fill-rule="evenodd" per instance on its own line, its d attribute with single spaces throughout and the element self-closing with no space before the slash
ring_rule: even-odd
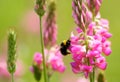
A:
<svg viewBox="0 0 120 82">
<path fill-rule="evenodd" d="M 63 57 L 59 51 L 59 47 L 54 46 L 48 52 L 47 63 L 52 67 L 54 71 L 58 71 L 62 73 L 65 71 L 65 65 L 62 58 Z"/>
</svg>

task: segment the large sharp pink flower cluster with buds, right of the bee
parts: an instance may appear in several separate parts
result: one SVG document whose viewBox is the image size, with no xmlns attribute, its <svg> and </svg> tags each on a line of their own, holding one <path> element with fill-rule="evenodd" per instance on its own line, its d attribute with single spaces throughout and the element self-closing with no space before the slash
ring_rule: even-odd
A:
<svg viewBox="0 0 120 82">
<path fill-rule="evenodd" d="M 105 70 L 106 56 L 111 54 L 109 22 L 100 17 L 99 9 L 102 0 L 73 0 L 73 18 L 77 24 L 77 35 L 71 34 L 69 48 L 74 73 L 84 73 L 87 78 L 93 69 Z"/>
</svg>

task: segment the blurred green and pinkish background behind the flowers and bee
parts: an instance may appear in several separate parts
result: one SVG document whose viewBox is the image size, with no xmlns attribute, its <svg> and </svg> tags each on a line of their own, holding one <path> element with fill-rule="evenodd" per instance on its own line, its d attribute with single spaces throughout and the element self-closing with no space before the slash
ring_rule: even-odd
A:
<svg viewBox="0 0 120 82">
<path fill-rule="evenodd" d="M 72 0 L 56 0 L 57 3 L 57 43 L 70 36 L 74 29 L 72 18 Z M 0 0 L 0 57 L 6 55 L 7 32 L 9 28 L 15 28 L 17 32 L 17 55 L 24 64 L 23 75 L 16 77 L 16 82 L 35 82 L 29 67 L 32 64 L 33 54 L 40 51 L 39 28 L 33 22 L 37 22 L 34 13 L 35 0 Z M 112 54 L 107 58 L 108 68 L 105 77 L 108 82 L 120 82 L 120 0 L 103 0 L 101 16 L 110 22 L 110 32 L 113 37 Z M 29 27 L 31 24 L 31 27 Z M 34 26 L 36 25 L 36 26 Z M 29 28 L 28 28 L 29 27 Z M 71 56 L 64 58 L 67 69 L 64 74 L 54 73 L 51 82 L 75 82 L 77 77 L 71 71 Z M 0 69 L 1 70 L 1 69 Z M 59 80 L 58 80 L 59 79 Z M 0 79 L 0 82 L 3 82 Z M 41 81 L 43 82 L 43 81 Z"/>
</svg>

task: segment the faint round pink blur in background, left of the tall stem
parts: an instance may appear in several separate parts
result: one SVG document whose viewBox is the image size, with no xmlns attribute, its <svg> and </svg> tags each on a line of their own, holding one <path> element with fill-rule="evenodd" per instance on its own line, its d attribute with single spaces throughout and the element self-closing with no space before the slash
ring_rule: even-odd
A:
<svg viewBox="0 0 120 82">
<path fill-rule="evenodd" d="M 27 32 L 39 34 L 39 17 L 34 10 L 25 13 L 21 25 Z"/>
</svg>

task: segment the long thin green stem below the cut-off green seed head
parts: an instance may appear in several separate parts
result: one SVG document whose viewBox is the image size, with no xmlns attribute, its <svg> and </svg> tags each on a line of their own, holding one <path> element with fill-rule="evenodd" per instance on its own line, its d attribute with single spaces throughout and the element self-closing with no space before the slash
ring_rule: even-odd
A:
<svg viewBox="0 0 120 82">
<path fill-rule="evenodd" d="M 48 82 L 47 70 L 45 65 L 45 54 L 44 54 L 44 41 L 43 41 L 43 33 L 42 33 L 42 16 L 39 16 L 40 20 L 40 40 L 41 40 L 41 51 L 43 57 L 43 73 L 44 73 L 44 82 Z"/>
</svg>

